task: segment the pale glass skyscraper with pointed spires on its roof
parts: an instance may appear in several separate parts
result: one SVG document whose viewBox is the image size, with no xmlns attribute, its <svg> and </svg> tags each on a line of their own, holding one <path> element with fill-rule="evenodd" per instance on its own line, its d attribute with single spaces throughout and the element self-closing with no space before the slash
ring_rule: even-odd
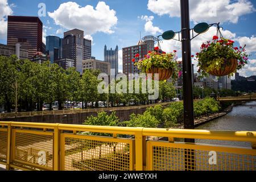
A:
<svg viewBox="0 0 256 182">
<path fill-rule="evenodd" d="M 115 47 L 114 50 L 112 48 L 108 50 L 105 45 L 104 61 L 107 61 L 108 63 L 110 63 L 111 75 L 117 75 L 118 74 L 118 46 Z"/>
</svg>

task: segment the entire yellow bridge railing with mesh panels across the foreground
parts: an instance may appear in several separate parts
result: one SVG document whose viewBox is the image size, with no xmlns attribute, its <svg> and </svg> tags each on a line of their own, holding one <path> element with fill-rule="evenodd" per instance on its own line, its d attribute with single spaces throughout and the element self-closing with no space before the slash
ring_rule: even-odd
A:
<svg viewBox="0 0 256 182">
<path fill-rule="evenodd" d="M 204 144 L 185 143 L 184 138 Z M 216 140 L 247 147 L 211 144 Z M 0 163 L 7 170 L 255 171 L 256 131 L 0 122 Z"/>
</svg>

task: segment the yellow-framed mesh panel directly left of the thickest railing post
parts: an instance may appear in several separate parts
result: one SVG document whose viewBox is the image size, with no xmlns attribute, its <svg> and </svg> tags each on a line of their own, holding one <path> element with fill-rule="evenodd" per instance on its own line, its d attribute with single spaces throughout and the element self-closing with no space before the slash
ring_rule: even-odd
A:
<svg viewBox="0 0 256 182">
<path fill-rule="evenodd" d="M 63 140 L 63 170 L 129 171 L 132 167 L 132 140 L 86 135 L 69 135 Z"/>
</svg>

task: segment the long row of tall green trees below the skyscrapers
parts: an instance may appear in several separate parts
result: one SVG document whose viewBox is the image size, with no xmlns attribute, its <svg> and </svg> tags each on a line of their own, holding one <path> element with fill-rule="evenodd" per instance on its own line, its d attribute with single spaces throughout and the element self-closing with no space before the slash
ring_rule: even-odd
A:
<svg viewBox="0 0 256 182">
<path fill-rule="evenodd" d="M 82 102 L 82 108 L 88 102 L 106 102 L 112 106 L 119 104 L 148 104 L 146 94 L 99 94 L 98 74 L 100 71 L 86 70 L 82 75 L 75 68 L 64 70 L 57 64 L 46 61 L 42 64 L 30 60 L 18 60 L 16 56 L 0 56 L 0 105 L 10 112 L 15 108 L 15 96 L 18 97 L 18 111 L 42 110 L 43 104 L 57 101 L 59 110 L 65 101 Z M 117 84 L 117 82 L 115 82 Z M 170 82 L 159 83 L 158 100 L 170 100 L 175 97 L 175 88 Z M 93 105 L 92 105 L 93 106 Z"/>
</svg>

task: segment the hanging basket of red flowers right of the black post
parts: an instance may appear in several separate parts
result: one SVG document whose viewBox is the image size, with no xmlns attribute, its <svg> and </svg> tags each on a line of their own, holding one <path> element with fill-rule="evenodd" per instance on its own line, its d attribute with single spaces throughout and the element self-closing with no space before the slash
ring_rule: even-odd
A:
<svg viewBox="0 0 256 182">
<path fill-rule="evenodd" d="M 196 53 L 199 73 L 202 76 L 233 75 L 247 64 L 248 56 L 244 47 L 233 47 L 234 41 L 213 36 L 212 42 L 203 43 Z M 194 56 L 192 56 L 194 57 Z"/>
</svg>

